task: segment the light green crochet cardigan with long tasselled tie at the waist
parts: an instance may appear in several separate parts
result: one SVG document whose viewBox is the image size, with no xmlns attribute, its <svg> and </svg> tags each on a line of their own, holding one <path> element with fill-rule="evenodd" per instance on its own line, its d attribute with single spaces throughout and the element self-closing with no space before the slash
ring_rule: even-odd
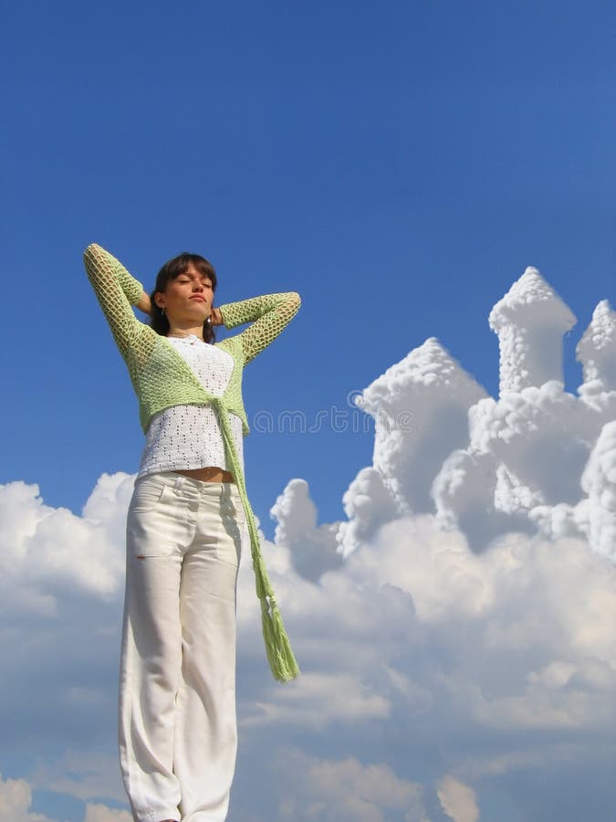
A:
<svg viewBox="0 0 616 822">
<path fill-rule="evenodd" d="M 84 263 L 120 353 L 131 375 L 139 398 L 141 427 L 147 431 L 151 417 L 169 406 L 212 405 L 217 409 L 224 448 L 244 506 L 250 534 L 250 549 L 256 576 L 256 594 L 261 602 L 263 633 L 267 659 L 277 680 L 298 676 L 298 663 L 290 648 L 274 591 L 261 556 L 255 517 L 248 501 L 245 477 L 237 458 L 228 414 L 242 420 L 244 436 L 250 428 L 242 399 L 242 372 L 246 363 L 263 351 L 288 325 L 299 310 L 301 300 L 295 291 L 265 294 L 249 300 L 219 306 L 227 329 L 251 322 L 244 332 L 214 344 L 231 354 L 234 368 L 224 395 L 217 397 L 205 391 L 190 366 L 166 337 L 139 321 L 132 311 L 143 294 L 141 282 L 108 251 L 92 243 L 84 252 Z"/>
</svg>

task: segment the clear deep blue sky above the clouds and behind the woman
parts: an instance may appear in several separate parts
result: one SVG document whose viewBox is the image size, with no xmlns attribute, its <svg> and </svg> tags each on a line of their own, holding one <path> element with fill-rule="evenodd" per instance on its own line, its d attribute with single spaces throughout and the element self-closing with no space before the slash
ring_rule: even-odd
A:
<svg viewBox="0 0 616 822">
<path fill-rule="evenodd" d="M 0 483 L 78 514 L 103 472 L 138 467 L 90 242 L 148 290 L 189 250 L 214 263 L 218 304 L 301 295 L 245 371 L 268 539 L 293 478 L 320 522 L 344 516 L 374 444 L 347 397 L 428 337 L 497 394 L 487 316 L 527 266 L 578 317 L 574 391 L 575 343 L 599 300 L 616 304 L 615 16 L 592 0 L 3 5 Z M 260 411 L 327 416 L 266 434 Z"/>
</svg>

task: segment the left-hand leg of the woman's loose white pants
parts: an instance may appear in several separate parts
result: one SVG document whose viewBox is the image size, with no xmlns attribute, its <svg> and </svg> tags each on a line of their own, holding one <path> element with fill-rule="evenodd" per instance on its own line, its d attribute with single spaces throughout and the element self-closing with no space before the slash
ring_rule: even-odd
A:
<svg viewBox="0 0 616 822">
<path fill-rule="evenodd" d="M 193 538 L 169 475 L 139 481 L 127 522 L 120 658 L 120 769 L 138 822 L 179 819 L 173 771 L 175 701 L 182 678 L 180 586 Z"/>
</svg>

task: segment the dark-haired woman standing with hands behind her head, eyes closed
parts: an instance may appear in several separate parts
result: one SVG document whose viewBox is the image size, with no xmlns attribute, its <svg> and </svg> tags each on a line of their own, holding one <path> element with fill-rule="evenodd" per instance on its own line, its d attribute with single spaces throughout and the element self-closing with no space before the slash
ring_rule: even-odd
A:
<svg viewBox="0 0 616 822">
<path fill-rule="evenodd" d="M 267 657 L 298 675 L 247 499 L 244 365 L 298 312 L 296 292 L 214 308 L 198 255 L 141 283 L 96 244 L 84 262 L 128 366 L 146 435 L 127 522 L 120 767 L 138 822 L 224 820 L 235 770 L 235 586 L 250 534 Z M 138 321 L 131 306 L 151 315 Z M 214 343 L 214 325 L 252 324 Z M 242 518 L 242 512 L 245 520 Z"/>
</svg>

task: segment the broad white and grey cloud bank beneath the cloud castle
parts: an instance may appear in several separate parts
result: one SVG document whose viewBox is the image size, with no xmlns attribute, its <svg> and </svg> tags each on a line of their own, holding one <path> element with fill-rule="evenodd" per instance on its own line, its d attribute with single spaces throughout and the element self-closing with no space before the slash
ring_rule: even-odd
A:
<svg viewBox="0 0 616 822">
<path fill-rule="evenodd" d="M 268 557 L 278 550 L 264 548 Z M 435 517 L 403 517 L 319 585 L 288 571 L 275 572 L 274 581 L 304 674 L 284 689 L 266 674 L 247 693 L 240 686 L 245 750 L 271 751 L 284 739 L 307 755 L 313 745 L 332 744 L 356 757 L 370 752 L 372 763 L 423 785 L 433 820 L 444 818 L 433 794 L 441 814 L 471 815 L 471 795 L 456 787 L 469 779 L 478 796 L 490 785 L 494 817 L 515 793 L 518 774 L 534 774 L 539 764 L 545 802 L 554 792 L 569 796 L 570 816 L 559 810 L 554 818 L 573 820 L 588 802 L 604 811 L 611 801 L 616 569 L 583 539 L 508 533 L 476 554 L 463 533 L 443 532 Z M 244 647 L 246 605 L 252 611 L 243 595 Z M 569 773 L 574 764 L 583 777 Z M 585 794 L 586 768 L 602 774 L 602 794 Z M 440 784 L 443 775 L 455 782 Z M 279 795 L 266 768 L 258 780 Z M 306 770 L 289 764 L 287 793 L 301 795 L 305 781 Z M 528 802 L 527 818 L 542 818 L 539 795 L 519 800 Z M 270 806 L 268 818 L 285 818 L 277 814 L 286 807 Z M 326 810 L 315 806 L 314 818 L 329 818 L 319 814 Z"/>
</svg>

